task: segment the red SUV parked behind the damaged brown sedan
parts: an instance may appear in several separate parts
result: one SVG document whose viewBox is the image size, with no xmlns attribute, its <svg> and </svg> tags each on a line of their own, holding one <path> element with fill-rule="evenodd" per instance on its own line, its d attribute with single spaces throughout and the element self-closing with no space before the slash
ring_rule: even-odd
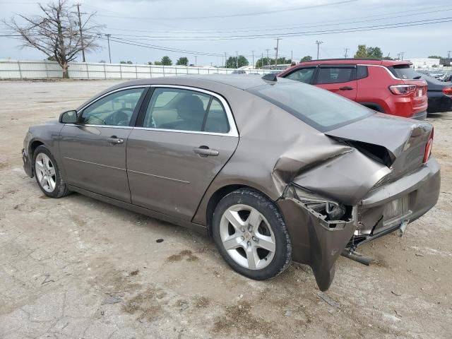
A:
<svg viewBox="0 0 452 339">
<path fill-rule="evenodd" d="M 343 95 L 376 111 L 427 117 L 427 82 L 408 61 L 324 59 L 302 62 L 278 74 Z"/>
</svg>

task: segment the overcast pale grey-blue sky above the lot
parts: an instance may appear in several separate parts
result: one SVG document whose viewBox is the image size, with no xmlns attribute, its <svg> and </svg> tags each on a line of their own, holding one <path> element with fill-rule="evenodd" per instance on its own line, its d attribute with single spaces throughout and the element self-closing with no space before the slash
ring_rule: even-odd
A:
<svg viewBox="0 0 452 339">
<path fill-rule="evenodd" d="M 81 1 L 81 11 L 97 11 L 95 20 L 106 26 L 104 33 L 121 41 L 196 52 L 198 65 L 221 65 L 225 52 L 228 56 L 236 51 L 244 54 L 250 64 L 252 51 L 255 61 L 261 54 L 266 56 L 266 49 L 274 57 L 278 35 L 282 39 L 280 55 L 292 54 L 297 61 L 305 55 L 316 57 L 316 40 L 323 41 L 320 58 L 344 57 L 345 48 L 350 49 L 348 55 L 352 56 L 358 44 L 381 47 L 383 54 L 391 57 L 405 52 L 404 59 L 432 54 L 447 56 L 452 49 L 450 0 L 90 0 Z M 0 18 L 8 19 L 15 13 L 37 14 L 39 8 L 31 0 L 0 0 Z M 428 23 L 426 20 L 432 19 L 449 22 L 417 25 L 420 20 Z M 331 33 L 398 23 L 411 26 Z M 0 25 L 0 32 L 5 30 Z M 325 30 L 328 34 L 319 32 Z M 244 35 L 270 36 L 236 38 Z M 100 40 L 100 44 L 104 48 L 88 54 L 87 61 L 108 61 L 107 41 Z M 18 45 L 18 40 L 0 37 L 0 59 L 44 59 L 41 52 L 19 49 Z M 195 61 L 195 54 L 187 52 L 166 52 L 119 42 L 111 42 L 110 46 L 112 62 L 131 60 L 141 64 L 160 60 L 164 55 L 174 63 L 182 56 L 188 57 L 191 64 Z"/>
</svg>

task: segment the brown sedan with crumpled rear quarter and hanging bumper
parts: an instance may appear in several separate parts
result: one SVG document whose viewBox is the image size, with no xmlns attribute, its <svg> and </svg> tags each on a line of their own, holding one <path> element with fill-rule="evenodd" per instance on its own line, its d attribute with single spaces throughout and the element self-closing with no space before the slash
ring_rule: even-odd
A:
<svg viewBox="0 0 452 339">
<path fill-rule="evenodd" d="M 305 263 L 326 290 L 345 247 L 435 205 L 432 143 L 426 122 L 275 75 L 218 74 L 114 85 L 31 126 L 22 157 L 46 196 L 76 191 L 207 232 L 252 279 Z"/>
</svg>

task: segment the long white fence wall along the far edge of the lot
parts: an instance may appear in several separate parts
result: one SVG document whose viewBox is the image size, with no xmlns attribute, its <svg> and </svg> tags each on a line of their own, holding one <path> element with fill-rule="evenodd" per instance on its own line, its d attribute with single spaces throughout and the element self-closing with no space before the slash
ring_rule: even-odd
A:
<svg viewBox="0 0 452 339">
<path fill-rule="evenodd" d="M 230 74 L 234 69 L 194 66 L 157 66 L 140 64 L 102 64 L 71 62 L 69 78 L 73 79 L 138 79 L 183 74 Z M 266 74 L 268 70 L 252 69 L 246 73 Z M 62 71 L 55 61 L 0 60 L 0 79 L 62 78 Z"/>
</svg>

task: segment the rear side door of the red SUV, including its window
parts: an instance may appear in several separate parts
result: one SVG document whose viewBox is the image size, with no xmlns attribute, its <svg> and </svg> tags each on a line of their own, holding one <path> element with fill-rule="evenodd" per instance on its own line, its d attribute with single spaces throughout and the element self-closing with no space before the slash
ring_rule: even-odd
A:
<svg viewBox="0 0 452 339">
<path fill-rule="evenodd" d="M 357 95 L 356 65 L 319 65 L 314 85 L 347 99 Z"/>
</svg>

